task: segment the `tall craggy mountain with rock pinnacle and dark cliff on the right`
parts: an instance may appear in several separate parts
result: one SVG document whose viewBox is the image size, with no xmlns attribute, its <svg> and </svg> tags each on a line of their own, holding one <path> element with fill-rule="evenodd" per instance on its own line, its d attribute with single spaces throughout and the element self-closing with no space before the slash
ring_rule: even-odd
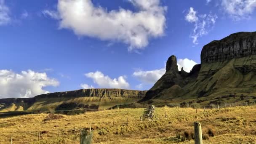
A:
<svg viewBox="0 0 256 144">
<path fill-rule="evenodd" d="M 214 40 L 201 51 L 201 64 L 178 70 L 176 56 L 140 102 L 221 104 L 256 99 L 256 32 L 238 32 Z"/>
</svg>

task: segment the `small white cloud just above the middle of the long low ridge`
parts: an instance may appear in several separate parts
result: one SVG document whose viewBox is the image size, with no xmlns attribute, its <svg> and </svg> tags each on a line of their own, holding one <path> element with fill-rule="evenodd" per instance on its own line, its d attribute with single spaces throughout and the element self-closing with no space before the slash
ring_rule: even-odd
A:
<svg viewBox="0 0 256 144">
<path fill-rule="evenodd" d="M 89 72 L 85 74 L 85 76 L 93 79 L 93 82 L 99 85 L 100 88 L 130 88 L 129 83 L 125 80 L 125 76 L 120 76 L 117 79 L 112 79 L 99 71 Z"/>
</svg>

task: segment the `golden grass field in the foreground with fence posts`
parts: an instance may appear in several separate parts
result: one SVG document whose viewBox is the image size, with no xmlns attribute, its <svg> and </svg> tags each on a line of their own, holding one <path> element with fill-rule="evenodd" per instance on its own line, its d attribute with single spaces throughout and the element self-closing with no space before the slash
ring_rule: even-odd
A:
<svg viewBox="0 0 256 144">
<path fill-rule="evenodd" d="M 165 117 L 165 112 L 167 117 Z M 44 121 L 48 114 L 30 114 L 0 119 L 0 144 L 79 144 L 80 128 L 93 130 L 95 144 L 172 144 L 181 141 L 176 133 L 193 131 L 193 122 L 202 124 L 203 134 L 208 128 L 216 131 L 204 144 L 256 143 L 256 107 L 222 109 L 156 108 L 157 120 L 140 116 L 144 109 L 112 109 L 63 115 L 63 118 Z M 128 117 L 128 125 L 127 125 Z M 114 120 L 114 125 L 113 125 Z M 76 135 L 74 135 L 76 127 Z M 58 138 L 58 129 L 60 138 Z M 38 141 L 38 131 L 40 141 Z M 193 140 L 180 142 L 193 144 Z"/>
</svg>

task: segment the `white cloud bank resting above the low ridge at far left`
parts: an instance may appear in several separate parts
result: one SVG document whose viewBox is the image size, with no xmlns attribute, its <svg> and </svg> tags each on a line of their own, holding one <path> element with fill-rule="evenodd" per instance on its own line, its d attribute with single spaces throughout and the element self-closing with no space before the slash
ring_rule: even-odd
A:
<svg viewBox="0 0 256 144">
<path fill-rule="evenodd" d="M 12 70 L 0 70 L 0 98 L 32 97 L 49 91 L 43 90 L 46 86 L 58 86 L 59 82 L 49 78 L 45 72 L 32 70 L 15 73 Z"/>
</svg>

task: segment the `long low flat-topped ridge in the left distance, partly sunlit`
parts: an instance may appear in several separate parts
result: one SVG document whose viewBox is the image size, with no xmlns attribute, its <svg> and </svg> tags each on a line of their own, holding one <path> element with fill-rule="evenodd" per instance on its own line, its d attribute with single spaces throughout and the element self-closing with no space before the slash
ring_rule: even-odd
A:
<svg viewBox="0 0 256 144">
<path fill-rule="evenodd" d="M 0 112 L 57 112 L 108 109 L 115 105 L 136 102 L 142 99 L 146 92 L 93 88 L 47 93 L 33 98 L 6 98 L 0 99 Z"/>
</svg>

